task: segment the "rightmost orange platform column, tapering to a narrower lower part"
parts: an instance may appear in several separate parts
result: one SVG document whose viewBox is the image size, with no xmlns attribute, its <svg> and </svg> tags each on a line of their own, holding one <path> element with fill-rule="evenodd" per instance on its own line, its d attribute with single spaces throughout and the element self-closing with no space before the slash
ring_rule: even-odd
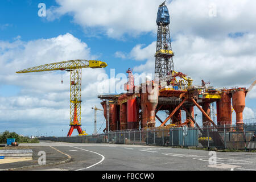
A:
<svg viewBox="0 0 256 182">
<path fill-rule="evenodd" d="M 236 125 L 243 125 L 243 109 L 245 109 L 245 92 L 237 91 L 232 94 L 233 108 L 236 111 Z"/>
</svg>

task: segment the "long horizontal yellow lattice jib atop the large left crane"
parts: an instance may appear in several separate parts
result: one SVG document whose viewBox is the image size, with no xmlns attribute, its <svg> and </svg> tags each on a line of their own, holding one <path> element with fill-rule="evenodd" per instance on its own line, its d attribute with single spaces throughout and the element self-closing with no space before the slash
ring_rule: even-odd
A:
<svg viewBox="0 0 256 182">
<path fill-rule="evenodd" d="M 96 60 L 70 60 L 62 61 L 58 63 L 44 64 L 38 67 L 32 67 L 23 69 L 16 73 L 32 73 L 32 72 L 46 72 L 46 71 L 56 71 L 56 70 L 66 70 L 66 69 L 77 69 L 77 68 L 105 68 L 108 64 L 103 61 Z"/>
</svg>

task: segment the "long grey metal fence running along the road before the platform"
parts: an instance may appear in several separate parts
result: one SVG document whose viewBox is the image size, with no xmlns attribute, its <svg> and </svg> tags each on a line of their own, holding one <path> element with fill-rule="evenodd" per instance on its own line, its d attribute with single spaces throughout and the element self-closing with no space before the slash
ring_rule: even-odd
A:
<svg viewBox="0 0 256 182">
<path fill-rule="evenodd" d="M 110 131 L 84 137 L 44 137 L 41 140 L 70 143 L 148 144 L 156 146 L 216 147 L 256 150 L 256 123 L 244 126 L 171 127 Z"/>
</svg>

